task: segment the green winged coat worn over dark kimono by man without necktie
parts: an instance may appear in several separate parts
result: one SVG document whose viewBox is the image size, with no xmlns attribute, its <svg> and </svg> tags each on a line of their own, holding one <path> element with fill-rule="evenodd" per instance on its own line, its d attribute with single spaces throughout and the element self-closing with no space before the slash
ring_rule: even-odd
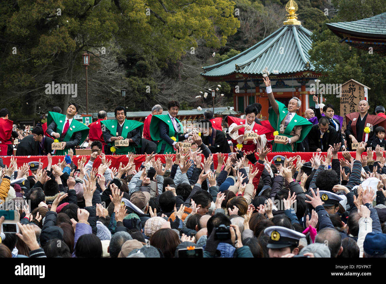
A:
<svg viewBox="0 0 386 284">
<path fill-rule="evenodd" d="M 102 124 L 102 131 L 103 126 L 106 127 L 106 130 L 110 132 L 110 134 L 114 137 L 117 136 L 117 125 L 118 121 L 116 119 L 108 119 L 108 120 L 102 120 L 100 121 Z M 122 136 L 124 139 L 127 138 L 127 134 L 129 134 L 130 131 L 133 131 L 135 128 L 139 128 L 139 132 L 142 133 L 144 129 L 144 124 L 139 121 L 135 120 L 127 120 L 125 119 L 125 122 L 122 126 L 122 133 L 119 136 Z M 142 140 L 139 140 L 139 145 L 137 147 L 142 146 Z M 112 142 L 107 142 L 106 144 L 109 145 L 110 147 L 114 146 L 115 141 Z M 135 146 L 134 145 L 129 145 L 127 147 L 123 146 L 114 146 L 115 147 L 115 154 L 117 155 L 127 155 L 129 152 L 134 152 L 135 153 Z"/>
</svg>

